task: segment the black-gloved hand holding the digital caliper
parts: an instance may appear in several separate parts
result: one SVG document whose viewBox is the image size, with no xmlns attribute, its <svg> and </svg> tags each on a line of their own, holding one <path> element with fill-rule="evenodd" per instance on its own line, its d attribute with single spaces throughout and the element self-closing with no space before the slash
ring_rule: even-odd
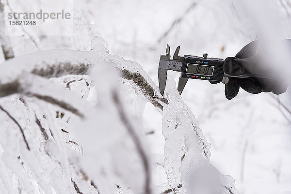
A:
<svg viewBox="0 0 291 194">
<path fill-rule="evenodd" d="M 228 100 L 238 94 L 240 87 L 253 94 L 258 94 L 262 91 L 281 94 L 287 90 L 286 86 L 282 86 L 279 81 L 268 75 L 266 66 L 259 65 L 259 60 L 256 56 L 257 45 L 258 42 L 253 41 L 244 46 L 235 57 L 226 58 L 223 64 L 223 70 L 226 74 L 256 76 L 251 78 L 228 77 L 228 83 L 225 85 L 225 94 Z"/>
</svg>

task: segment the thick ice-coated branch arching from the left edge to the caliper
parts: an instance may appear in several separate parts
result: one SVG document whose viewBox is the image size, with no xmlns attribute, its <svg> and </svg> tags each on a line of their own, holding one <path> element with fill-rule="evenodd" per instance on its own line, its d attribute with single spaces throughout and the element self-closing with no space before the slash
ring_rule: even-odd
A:
<svg viewBox="0 0 291 194">
<path fill-rule="evenodd" d="M 132 80 L 136 86 L 135 90 L 141 91 L 156 107 L 162 109 L 162 103 L 167 103 L 167 100 L 159 94 L 157 86 L 138 63 L 108 53 L 67 49 L 39 51 L 5 61 L 0 65 L 0 97 L 17 93 L 19 90 L 17 78 L 24 73 L 46 78 L 68 74 L 83 75 L 89 73 L 91 66 L 102 63 L 110 64 L 121 77 Z M 110 72 L 107 74 L 110 76 Z"/>
</svg>

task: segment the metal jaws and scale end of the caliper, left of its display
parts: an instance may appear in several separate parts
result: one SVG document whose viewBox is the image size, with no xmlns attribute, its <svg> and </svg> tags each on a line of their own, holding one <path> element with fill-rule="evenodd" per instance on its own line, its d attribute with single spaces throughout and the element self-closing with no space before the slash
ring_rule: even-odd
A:
<svg viewBox="0 0 291 194">
<path fill-rule="evenodd" d="M 170 46 L 167 45 L 166 55 L 161 55 L 160 57 L 158 78 L 159 78 L 159 88 L 160 88 L 160 92 L 162 96 L 164 94 L 164 90 L 166 87 L 168 70 L 181 72 L 181 76 L 178 82 L 178 91 L 180 94 L 182 93 L 188 81 L 188 78 L 182 77 L 182 63 L 185 58 L 178 56 L 179 50 L 180 50 L 180 46 L 176 48 L 174 56 L 173 56 L 173 60 L 171 60 Z"/>
</svg>

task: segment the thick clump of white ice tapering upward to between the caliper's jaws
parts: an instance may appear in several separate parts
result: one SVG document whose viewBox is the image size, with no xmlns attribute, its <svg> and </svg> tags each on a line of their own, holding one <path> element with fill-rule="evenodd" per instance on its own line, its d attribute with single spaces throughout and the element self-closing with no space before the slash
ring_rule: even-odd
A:
<svg viewBox="0 0 291 194">
<path fill-rule="evenodd" d="M 217 193 L 227 188 L 231 188 L 227 189 L 229 193 L 236 193 L 233 179 L 222 175 L 210 164 L 210 145 L 171 77 L 168 77 L 164 96 L 169 100 L 164 105 L 162 119 L 166 139 L 165 169 L 173 193 Z M 179 184 L 182 185 L 180 188 Z"/>
</svg>

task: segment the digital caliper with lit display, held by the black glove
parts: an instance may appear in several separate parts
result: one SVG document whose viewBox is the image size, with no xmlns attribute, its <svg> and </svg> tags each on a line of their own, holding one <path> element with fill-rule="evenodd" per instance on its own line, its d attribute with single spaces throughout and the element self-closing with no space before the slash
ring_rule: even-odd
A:
<svg viewBox="0 0 291 194">
<path fill-rule="evenodd" d="M 166 55 L 161 55 L 158 77 L 159 88 L 163 95 L 167 81 L 167 71 L 173 70 L 181 72 L 181 76 L 178 82 L 178 91 L 181 94 L 188 79 L 201 79 L 207 81 L 216 82 L 228 82 L 228 77 L 249 78 L 251 75 L 227 75 L 224 73 L 222 66 L 223 59 L 208 58 L 207 53 L 203 54 L 203 57 L 197 57 L 192 55 L 184 55 L 184 57 L 178 56 L 180 46 L 176 48 L 173 59 L 171 60 L 170 46 L 167 45 Z"/>
</svg>

